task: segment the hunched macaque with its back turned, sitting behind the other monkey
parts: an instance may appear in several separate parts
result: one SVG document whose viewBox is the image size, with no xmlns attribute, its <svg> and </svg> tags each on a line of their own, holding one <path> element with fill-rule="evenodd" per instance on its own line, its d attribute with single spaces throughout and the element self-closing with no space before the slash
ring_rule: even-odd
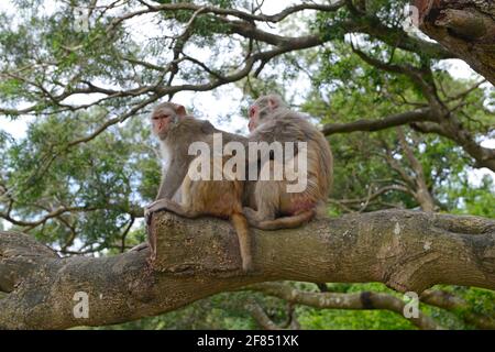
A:
<svg viewBox="0 0 495 352">
<path fill-rule="evenodd" d="M 250 226 L 262 230 L 296 228 L 323 212 L 333 179 L 333 158 L 324 135 L 300 113 L 288 109 L 277 95 L 260 97 L 250 107 L 249 118 L 250 142 L 307 143 L 305 189 L 288 193 L 287 186 L 293 183 L 286 177 L 257 180 L 253 197 L 256 210 L 252 209 L 253 205 L 244 208 Z M 272 170 L 275 162 L 270 160 L 262 167 Z"/>
</svg>

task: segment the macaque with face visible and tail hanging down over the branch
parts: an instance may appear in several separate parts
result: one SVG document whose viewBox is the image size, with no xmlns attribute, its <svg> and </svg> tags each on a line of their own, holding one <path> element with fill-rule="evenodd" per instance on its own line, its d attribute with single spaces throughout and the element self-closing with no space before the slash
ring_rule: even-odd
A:
<svg viewBox="0 0 495 352">
<path fill-rule="evenodd" d="M 205 142 L 213 150 L 213 133 L 221 133 L 223 143 L 245 142 L 245 138 L 217 130 L 208 121 L 187 116 L 183 106 L 165 102 L 157 106 L 152 113 L 153 133 L 160 139 L 163 152 L 168 156 L 168 167 L 164 172 L 156 201 L 145 210 L 146 221 L 153 212 L 168 210 L 185 218 L 212 216 L 230 219 L 238 233 L 242 257 L 242 268 L 252 268 L 251 244 L 248 221 L 242 212 L 244 182 L 231 175 L 215 180 L 211 173 L 216 165 L 210 157 L 210 178 L 194 180 L 189 167 L 194 167 L 195 155 L 189 155 L 189 145 Z M 199 156 L 198 156 L 199 157 Z M 231 156 L 221 156 L 222 164 Z M 191 164 L 193 163 L 193 164 Z M 242 165 L 244 167 L 244 165 Z M 172 200 L 182 188 L 180 204 Z"/>
</svg>

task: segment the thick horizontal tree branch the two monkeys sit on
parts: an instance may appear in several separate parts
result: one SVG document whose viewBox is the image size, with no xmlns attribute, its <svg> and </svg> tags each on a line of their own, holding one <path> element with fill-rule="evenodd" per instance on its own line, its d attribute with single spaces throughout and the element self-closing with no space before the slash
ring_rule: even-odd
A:
<svg viewBox="0 0 495 352">
<path fill-rule="evenodd" d="M 387 210 L 251 230 L 254 271 L 243 273 L 227 221 L 154 215 L 152 251 L 58 257 L 23 233 L 0 232 L 0 328 L 64 329 L 155 316 L 267 280 L 382 282 L 420 294 L 435 284 L 495 289 L 495 221 Z M 73 311 L 76 293 L 89 317 Z"/>
</svg>

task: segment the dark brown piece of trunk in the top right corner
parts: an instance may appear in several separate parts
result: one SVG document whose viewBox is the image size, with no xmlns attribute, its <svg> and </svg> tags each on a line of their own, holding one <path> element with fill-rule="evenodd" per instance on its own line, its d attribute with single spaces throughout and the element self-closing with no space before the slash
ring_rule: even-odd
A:
<svg viewBox="0 0 495 352">
<path fill-rule="evenodd" d="M 495 3 L 416 0 L 419 29 L 495 85 Z"/>
</svg>

